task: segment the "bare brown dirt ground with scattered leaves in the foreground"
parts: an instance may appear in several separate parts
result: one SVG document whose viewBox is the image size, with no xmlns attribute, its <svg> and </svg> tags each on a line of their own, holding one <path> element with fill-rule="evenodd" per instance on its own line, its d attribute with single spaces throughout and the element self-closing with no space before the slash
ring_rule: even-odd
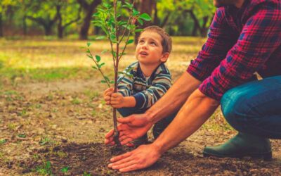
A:
<svg viewBox="0 0 281 176">
<path fill-rule="evenodd" d="M 0 91 L 0 175 L 122 175 L 107 168 L 103 138 L 112 127 L 100 80 L 35 82 Z M 145 170 L 124 175 L 281 175 L 281 142 L 273 161 L 203 158 L 204 146 L 235 135 L 217 111 L 200 130 Z M 151 134 L 150 140 L 152 141 Z"/>
</svg>

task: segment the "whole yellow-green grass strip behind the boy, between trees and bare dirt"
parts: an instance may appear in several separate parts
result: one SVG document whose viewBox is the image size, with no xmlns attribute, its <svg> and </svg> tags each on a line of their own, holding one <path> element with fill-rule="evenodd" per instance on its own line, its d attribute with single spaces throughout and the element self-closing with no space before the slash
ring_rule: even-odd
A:
<svg viewBox="0 0 281 176">
<path fill-rule="evenodd" d="M 167 65 L 188 62 L 195 58 L 204 42 L 199 37 L 173 37 L 173 51 Z M 89 79 L 100 76 L 91 69 L 92 61 L 86 57 L 85 41 L 48 39 L 0 39 L 0 82 L 50 82 L 66 79 Z M 110 49 L 107 41 L 92 42 L 93 55 Z M 121 68 L 135 60 L 135 46 L 128 47 L 122 59 Z M 105 72 L 112 75 L 112 61 L 109 54 L 101 54 Z M 2 83 L 1 83 L 1 86 Z"/>
</svg>

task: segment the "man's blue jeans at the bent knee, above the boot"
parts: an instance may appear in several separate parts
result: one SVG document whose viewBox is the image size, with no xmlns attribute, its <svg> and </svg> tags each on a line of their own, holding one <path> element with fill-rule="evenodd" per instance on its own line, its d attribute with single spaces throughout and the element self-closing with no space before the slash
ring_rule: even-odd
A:
<svg viewBox="0 0 281 176">
<path fill-rule="evenodd" d="M 221 110 L 238 132 L 281 139 L 281 75 L 228 90 Z"/>
</svg>

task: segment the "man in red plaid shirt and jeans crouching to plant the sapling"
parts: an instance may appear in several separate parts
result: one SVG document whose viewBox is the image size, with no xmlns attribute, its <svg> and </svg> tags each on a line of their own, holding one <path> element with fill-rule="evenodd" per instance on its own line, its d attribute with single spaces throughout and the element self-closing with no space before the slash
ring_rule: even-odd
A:
<svg viewBox="0 0 281 176">
<path fill-rule="evenodd" d="M 281 139 L 281 1 L 214 0 L 218 7 L 208 39 L 186 73 L 148 111 L 119 119 L 120 141 L 141 137 L 178 111 L 149 145 L 111 158 L 120 172 L 147 168 L 195 132 L 221 104 L 238 134 L 204 156 L 270 159 L 268 138 Z M 256 80 L 259 73 L 263 80 Z M 112 142 L 113 131 L 105 136 Z"/>
</svg>

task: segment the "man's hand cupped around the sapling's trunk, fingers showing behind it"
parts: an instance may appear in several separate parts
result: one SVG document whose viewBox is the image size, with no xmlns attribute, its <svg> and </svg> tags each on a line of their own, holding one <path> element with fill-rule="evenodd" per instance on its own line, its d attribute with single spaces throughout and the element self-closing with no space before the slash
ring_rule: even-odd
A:
<svg viewBox="0 0 281 176">
<path fill-rule="evenodd" d="M 146 114 L 133 114 L 126 118 L 117 118 L 117 121 L 121 123 L 117 129 L 119 131 L 119 141 L 122 145 L 142 137 L 152 127 L 152 123 L 148 121 Z M 114 130 L 112 129 L 105 135 L 105 144 L 115 144 L 113 134 Z"/>
</svg>

